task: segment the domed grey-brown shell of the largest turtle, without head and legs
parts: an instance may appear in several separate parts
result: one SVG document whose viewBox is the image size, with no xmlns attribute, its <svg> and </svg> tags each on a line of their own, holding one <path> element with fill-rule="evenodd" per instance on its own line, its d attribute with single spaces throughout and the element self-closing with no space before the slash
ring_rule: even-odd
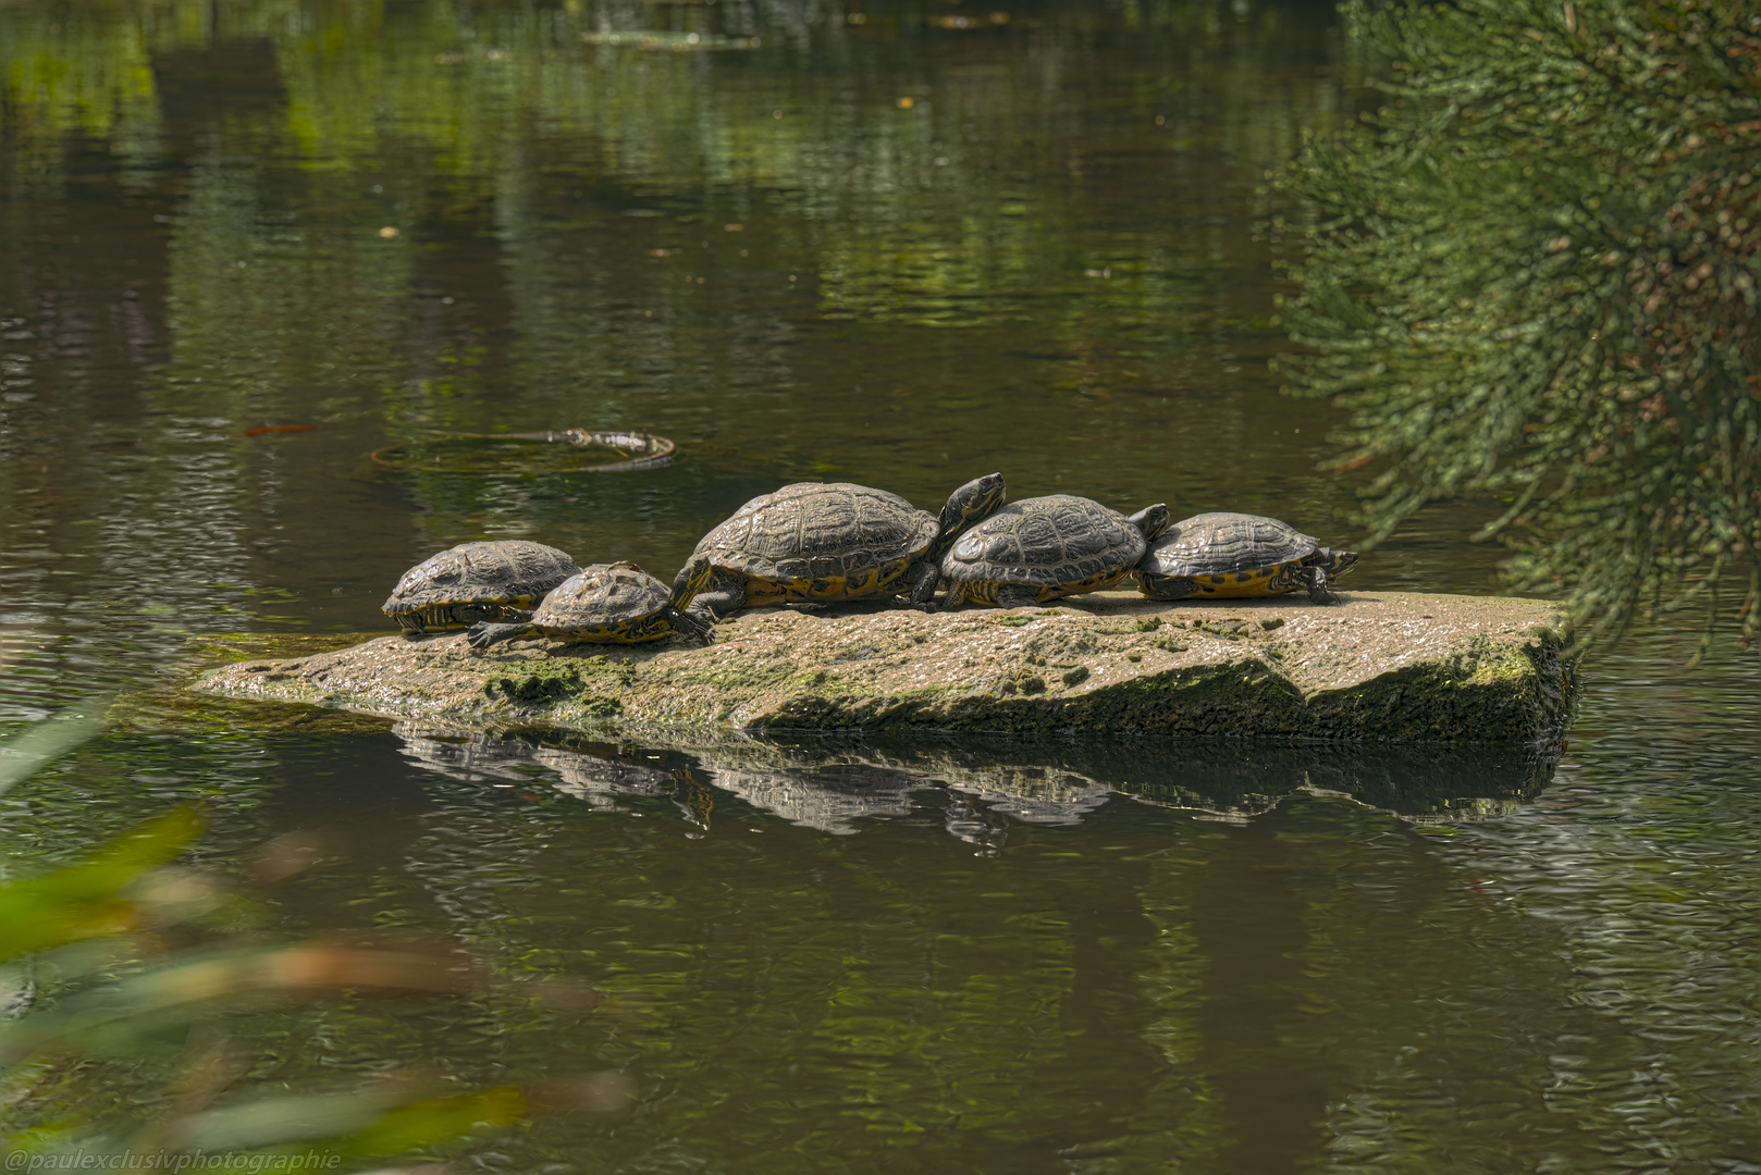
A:
<svg viewBox="0 0 1761 1175">
<path fill-rule="evenodd" d="M 939 525 L 886 490 L 799 481 L 741 506 L 692 558 L 743 576 L 752 604 L 875 595 L 930 550 Z"/>
</svg>

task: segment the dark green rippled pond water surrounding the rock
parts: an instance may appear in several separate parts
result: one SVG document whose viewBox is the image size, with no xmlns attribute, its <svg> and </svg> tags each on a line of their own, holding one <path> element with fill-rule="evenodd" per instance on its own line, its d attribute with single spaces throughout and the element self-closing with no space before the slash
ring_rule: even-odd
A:
<svg viewBox="0 0 1761 1175">
<path fill-rule="evenodd" d="M 317 837 L 282 932 L 632 1009 L 261 1013 L 254 1078 L 634 1082 L 447 1152 L 509 1171 L 1761 1171 L 1761 668 L 1722 636 L 1594 661 L 1557 765 L 472 738 L 164 687 L 201 634 L 386 631 L 467 539 L 671 574 L 799 477 L 1349 541 L 1254 233 L 1365 100 L 1328 5 L 30 0 L 0 65 L 0 735 L 134 699 L 0 800 L 7 858 L 195 798 L 206 865 Z M 678 460 L 368 460 L 560 428 Z M 1490 507 L 1351 587 L 1495 590 Z"/>
</svg>

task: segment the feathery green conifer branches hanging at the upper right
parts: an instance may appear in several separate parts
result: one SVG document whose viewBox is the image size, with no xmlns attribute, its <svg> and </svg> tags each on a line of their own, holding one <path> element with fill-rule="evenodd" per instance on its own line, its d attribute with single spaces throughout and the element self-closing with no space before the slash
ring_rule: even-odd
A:
<svg viewBox="0 0 1761 1175">
<path fill-rule="evenodd" d="M 1291 391 L 1352 412 L 1388 537 L 1495 493 L 1585 636 L 1745 571 L 1761 631 L 1761 14 L 1733 0 L 1345 5 L 1388 104 L 1284 176 L 1321 217 Z M 1275 224 L 1275 233 L 1293 225 Z"/>
</svg>

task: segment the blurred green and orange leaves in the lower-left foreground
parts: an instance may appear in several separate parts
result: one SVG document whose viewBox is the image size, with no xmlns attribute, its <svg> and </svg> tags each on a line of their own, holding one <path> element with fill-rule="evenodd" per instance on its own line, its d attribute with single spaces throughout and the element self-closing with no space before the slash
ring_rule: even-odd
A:
<svg viewBox="0 0 1761 1175">
<path fill-rule="evenodd" d="M 95 721 L 63 719 L 0 743 L 0 770 L 9 772 L 0 791 L 95 729 Z M 264 1163 L 250 1170 L 347 1171 L 537 1113 L 629 1105 L 618 1073 L 463 1094 L 433 1075 L 396 1069 L 361 1089 L 239 1089 L 252 1057 L 225 1034 L 231 1008 L 349 994 L 458 999 L 493 985 L 451 944 L 266 942 L 255 920 L 238 916 L 247 902 L 225 883 L 167 868 L 201 831 L 195 810 L 174 809 L 79 863 L 0 884 L 0 962 L 21 960 L 0 972 L 0 1138 L 26 1163 L 136 1170 L 224 1152 Z M 571 983 L 519 988 L 564 1011 L 599 1002 Z M 92 1069 L 106 1064 L 173 1076 L 130 1094 L 134 1113 L 106 1112 L 90 1096 Z M 278 1156 L 298 1166 L 275 1166 Z"/>
</svg>

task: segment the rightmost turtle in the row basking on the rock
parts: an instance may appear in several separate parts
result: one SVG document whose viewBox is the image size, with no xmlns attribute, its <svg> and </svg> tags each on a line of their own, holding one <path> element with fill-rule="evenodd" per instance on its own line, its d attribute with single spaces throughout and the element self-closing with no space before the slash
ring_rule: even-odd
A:
<svg viewBox="0 0 1761 1175">
<path fill-rule="evenodd" d="M 1358 551 L 1335 551 L 1296 527 L 1259 514 L 1212 513 L 1176 521 L 1138 564 L 1150 599 L 1277 595 L 1307 588 L 1335 604 L 1328 581 L 1351 571 Z"/>
</svg>

